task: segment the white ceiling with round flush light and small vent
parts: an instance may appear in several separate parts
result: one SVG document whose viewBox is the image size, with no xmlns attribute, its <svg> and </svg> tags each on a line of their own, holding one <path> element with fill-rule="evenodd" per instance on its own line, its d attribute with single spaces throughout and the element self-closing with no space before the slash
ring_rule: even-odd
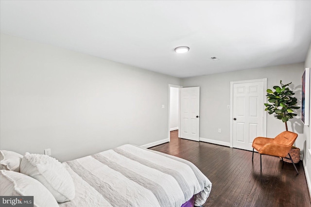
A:
<svg viewBox="0 0 311 207">
<path fill-rule="evenodd" d="M 311 0 L 0 0 L 0 32 L 186 78 L 304 62 Z"/>
</svg>

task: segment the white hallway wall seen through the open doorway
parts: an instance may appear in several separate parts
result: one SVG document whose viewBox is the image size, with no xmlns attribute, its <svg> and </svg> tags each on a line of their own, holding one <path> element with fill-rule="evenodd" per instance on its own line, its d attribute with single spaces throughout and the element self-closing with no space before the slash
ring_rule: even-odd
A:
<svg viewBox="0 0 311 207">
<path fill-rule="evenodd" d="M 179 88 L 170 88 L 170 131 L 178 129 Z"/>
</svg>

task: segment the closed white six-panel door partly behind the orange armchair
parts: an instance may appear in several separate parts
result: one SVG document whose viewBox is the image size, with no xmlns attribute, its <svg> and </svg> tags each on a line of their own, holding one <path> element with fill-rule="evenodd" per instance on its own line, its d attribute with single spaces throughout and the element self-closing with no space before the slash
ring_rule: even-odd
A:
<svg viewBox="0 0 311 207">
<path fill-rule="evenodd" d="M 252 150 L 254 138 L 266 136 L 266 79 L 231 82 L 233 147 Z"/>
</svg>

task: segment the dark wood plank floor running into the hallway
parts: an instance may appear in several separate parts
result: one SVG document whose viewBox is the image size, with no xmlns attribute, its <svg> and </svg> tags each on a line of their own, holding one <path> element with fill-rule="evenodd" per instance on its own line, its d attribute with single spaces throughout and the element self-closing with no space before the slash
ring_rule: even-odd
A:
<svg viewBox="0 0 311 207">
<path fill-rule="evenodd" d="M 279 158 L 216 144 L 178 138 L 150 149 L 187 159 L 212 182 L 204 207 L 311 207 L 303 165 L 282 162 Z"/>
</svg>

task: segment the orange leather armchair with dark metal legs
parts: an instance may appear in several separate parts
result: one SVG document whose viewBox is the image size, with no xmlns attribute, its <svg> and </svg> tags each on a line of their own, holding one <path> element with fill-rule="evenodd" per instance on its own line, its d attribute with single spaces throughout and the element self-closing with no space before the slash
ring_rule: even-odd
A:
<svg viewBox="0 0 311 207">
<path fill-rule="evenodd" d="M 298 174 L 297 168 L 293 162 L 291 155 L 289 154 L 290 149 L 292 148 L 295 140 L 297 139 L 298 134 L 291 131 L 283 131 L 277 135 L 274 139 L 266 137 L 256 137 L 253 141 L 253 157 L 254 160 L 254 149 L 260 154 L 260 172 L 261 172 L 261 155 L 271 155 L 276 157 L 281 157 L 282 160 L 287 155 L 289 155 L 290 160 L 292 161 L 294 168 Z"/>
</svg>

